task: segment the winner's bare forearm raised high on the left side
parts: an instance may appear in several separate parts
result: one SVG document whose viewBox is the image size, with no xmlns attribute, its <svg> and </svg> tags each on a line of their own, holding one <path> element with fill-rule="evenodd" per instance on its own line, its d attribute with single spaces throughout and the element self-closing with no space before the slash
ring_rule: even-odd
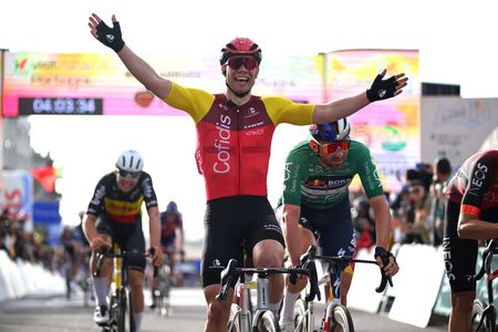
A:
<svg viewBox="0 0 498 332">
<path fill-rule="evenodd" d="M 136 55 L 127 45 L 124 45 L 117 55 L 132 75 L 144 84 L 148 91 L 162 100 L 169 95 L 172 83 L 160 77 L 147 62 Z"/>
</svg>

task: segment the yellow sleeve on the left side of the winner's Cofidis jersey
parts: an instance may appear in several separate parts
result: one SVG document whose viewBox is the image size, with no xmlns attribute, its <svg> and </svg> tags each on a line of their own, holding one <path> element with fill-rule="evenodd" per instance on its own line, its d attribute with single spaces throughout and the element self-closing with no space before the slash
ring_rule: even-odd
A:
<svg viewBox="0 0 498 332">
<path fill-rule="evenodd" d="M 197 124 L 209 111 L 215 96 L 199 89 L 184 87 L 172 82 L 172 91 L 164 100 L 172 107 L 187 112 Z"/>
</svg>

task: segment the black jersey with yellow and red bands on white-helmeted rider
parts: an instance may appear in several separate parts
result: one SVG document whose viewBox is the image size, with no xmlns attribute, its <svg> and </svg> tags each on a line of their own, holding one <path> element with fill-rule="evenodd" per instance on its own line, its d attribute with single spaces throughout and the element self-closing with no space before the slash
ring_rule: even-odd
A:
<svg viewBox="0 0 498 332">
<path fill-rule="evenodd" d="M 101 178 L 89 204 L 87 214 L 105 217 L 120 224 L 136 224 L 142 218 L 142 203 L 145 207 L 157 206 L 151 175 L 142 172 L 137 185 L 129 193 L 117 187 L 116 174 L 110 173 Z"/>
</svg>

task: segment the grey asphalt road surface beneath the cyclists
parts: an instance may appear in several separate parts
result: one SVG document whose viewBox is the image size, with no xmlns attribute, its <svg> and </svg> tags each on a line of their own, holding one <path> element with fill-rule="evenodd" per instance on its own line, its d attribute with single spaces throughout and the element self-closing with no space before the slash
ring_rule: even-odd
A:
<svg viewBox="0 0 498 332">
<path fill-rule="evenodd" d="M 147 297 L 146 297 L 147 299 Z M 167 318 L 146 311 L 143 332 L 203 331 L 206 309 L 200 289 L 175 289 L 173 310 Z M 100 331 L 92 321 L 93 308 L 83 307 L 75 294 L 72 300 L 61 297 L 30 298 L 0 302 L 0 332 L 80 332 Z M 426 329 L 390 320 L 386 315 L 352 311 L 355 331 L 374 332 L 440 332 L 447 325 L 443 319 L 432 320 Z"/>
</svg>

